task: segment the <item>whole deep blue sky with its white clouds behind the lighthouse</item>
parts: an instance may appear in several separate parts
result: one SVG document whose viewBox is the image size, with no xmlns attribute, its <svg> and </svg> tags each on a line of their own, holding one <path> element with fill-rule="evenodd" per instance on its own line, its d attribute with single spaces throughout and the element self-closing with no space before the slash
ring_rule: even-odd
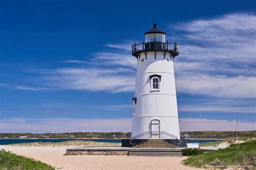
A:
<svg viewBox="0 0 256 170">
<path fill-rule="evenodd" d="M 254 1 L 1 1 L 0 132 L 131 131 L 131 44 L 180 44 L 180 129 L 256 129 Z"/>
</svg>

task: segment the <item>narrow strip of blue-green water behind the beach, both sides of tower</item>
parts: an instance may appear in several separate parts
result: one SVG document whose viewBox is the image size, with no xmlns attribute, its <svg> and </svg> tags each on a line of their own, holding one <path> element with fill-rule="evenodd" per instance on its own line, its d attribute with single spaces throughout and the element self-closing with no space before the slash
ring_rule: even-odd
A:
<svg viewBox="0 0 256 170">
<path fill-rule="evenodd" d="M 33 143 L 33 142 L 61 142 L 69 140 L 84 140 L 84 141 L 102 141 L 111 143 L 121 143 L 122 139 L 0 139 L 0 145 L 19 144 L 19 143 Z M 190 139 L 190 143 L 207 143 L 219 141 L 220 139 Z"/>
</svg>

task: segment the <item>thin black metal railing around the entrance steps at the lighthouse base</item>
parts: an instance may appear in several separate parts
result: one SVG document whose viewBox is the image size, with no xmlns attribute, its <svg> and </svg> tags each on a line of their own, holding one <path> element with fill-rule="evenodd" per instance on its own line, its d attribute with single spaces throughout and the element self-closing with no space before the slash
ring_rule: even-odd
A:
<svg viewBox="0 0 256 170">
<path fill-rule="evenodd" d="M 165 131 L 146 131 L 146 132 L 143 132 L 141 134 L 138 134 L 137 136 L 134 136 L 130 143 L 132 145 L 134 145 L 132 143 L 132 140 L 134 139 L 146 139 L 146 140 L 169 140 L 169 139 L 174 139 L 176 140 L 175 142 L 175 145 L 178 146 L 180 143 L 181 143 L 181 140 L 178 139 L 177 136 L 171 134 L 171 133 L 168 133 L 168 132 L 165 132 Z"/>
</svg>

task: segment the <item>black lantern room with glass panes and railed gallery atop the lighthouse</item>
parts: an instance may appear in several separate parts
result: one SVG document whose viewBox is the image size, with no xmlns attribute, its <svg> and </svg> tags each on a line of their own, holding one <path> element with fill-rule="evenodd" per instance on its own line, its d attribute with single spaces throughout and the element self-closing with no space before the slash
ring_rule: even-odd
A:
<svg viewBox="0 0 256 170">
<path fill-rule="evenodd" d="M 174 43 L 169 43 L 166 40 L 166 33 L 159 30 L 157 24 L 153 24 L 153 28 L 144 33 L 145 39 L 142 42 L 134 42 L 132 44 L 132 55 L 136 58 L 140 57 L 140 53 L 144 52 L 157 52 L 163 51 L 169 52 L 171 57 L 179 55 L 179 45 Z"/>
</svg>

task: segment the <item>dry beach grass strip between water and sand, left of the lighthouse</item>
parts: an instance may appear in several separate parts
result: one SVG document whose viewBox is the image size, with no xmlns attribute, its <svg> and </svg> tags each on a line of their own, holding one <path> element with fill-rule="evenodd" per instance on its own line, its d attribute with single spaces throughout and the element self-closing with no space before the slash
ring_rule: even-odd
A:
<svg viewBox="0 0 256 170">
<path fill-rule="evenodd" d="M 121 143 L 111 143 L 102 141 L 69 140 L 62 142 L 33 142 L 10 144 L 10 146 L 42 146 L 42 147 L 76 147 L 76 146 L 121 146 Z"/>
</svg>

